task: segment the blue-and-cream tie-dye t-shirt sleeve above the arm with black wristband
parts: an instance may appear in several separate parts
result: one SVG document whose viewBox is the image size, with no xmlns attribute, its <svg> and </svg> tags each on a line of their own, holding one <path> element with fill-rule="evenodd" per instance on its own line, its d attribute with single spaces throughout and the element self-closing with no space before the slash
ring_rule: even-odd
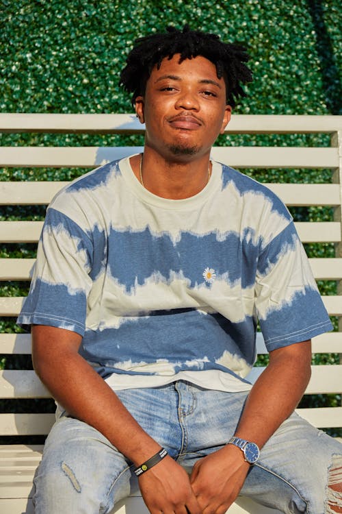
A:
<svg viewBox="0 0 342 514">
<path fill-rule="evenodd" d="M 92 286 L 92 241 L 75 221 L 49 208 L 28 297 L 17 323 L 65 328 L 83 336 Z"/>
</svg>

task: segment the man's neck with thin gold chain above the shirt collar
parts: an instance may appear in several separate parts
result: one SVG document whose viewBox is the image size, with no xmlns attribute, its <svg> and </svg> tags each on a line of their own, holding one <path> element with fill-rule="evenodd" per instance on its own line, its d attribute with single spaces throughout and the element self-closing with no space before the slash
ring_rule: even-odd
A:
<svg viewBox="0 0 342 514">
<path fill-rule="evenodd" d="M 185 199 L 202 191 L 211 176 L 209 155 L 190 160 L 163 158 L 145 149 L 130 159 L 133 173 L 150 193 L 167 199 Z"/>
</svg>

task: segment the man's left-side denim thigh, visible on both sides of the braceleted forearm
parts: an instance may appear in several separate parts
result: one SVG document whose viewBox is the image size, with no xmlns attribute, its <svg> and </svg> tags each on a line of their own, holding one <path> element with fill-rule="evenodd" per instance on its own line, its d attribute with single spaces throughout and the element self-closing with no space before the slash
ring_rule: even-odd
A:
<svg viewBox="0 0 342 514">
<path fill-rule="evenodd" d="M 117 395 L 142 428 L 176 457 L 182 432 L 174 386 Z M 57 419 L 34 480 L 36 514 L 106 513 L 138 489 L 131 463 L 100 432 L 59 411 Z"/>
</svg>

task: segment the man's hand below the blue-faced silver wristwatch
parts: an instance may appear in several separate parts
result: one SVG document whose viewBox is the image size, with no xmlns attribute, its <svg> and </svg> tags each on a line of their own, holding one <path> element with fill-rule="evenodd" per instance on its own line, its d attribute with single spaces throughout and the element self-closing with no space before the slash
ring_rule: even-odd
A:
<svg viewBox="0 0 342 514">
<path fill-rule="evenodd" d="M 244 454 L 226 445 L 197 461 L 190 482 L 202 514 L 224 514 L 234 502 L 250 469 Z"/>
</svg>

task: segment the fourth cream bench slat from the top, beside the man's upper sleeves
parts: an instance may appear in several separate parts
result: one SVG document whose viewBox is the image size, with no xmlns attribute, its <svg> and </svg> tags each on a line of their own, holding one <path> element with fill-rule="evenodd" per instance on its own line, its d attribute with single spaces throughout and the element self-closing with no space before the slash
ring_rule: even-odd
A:
<svg viewBox="0 0 342 514">
<path fill-rule="evenodd" d="M 37 243 L 42 221 L 0 221 L 3 243 Z M 303 243 L 339 243 L 341 223 L 338 221 L 299 221 L 295 223 Z"/>
</svg>

